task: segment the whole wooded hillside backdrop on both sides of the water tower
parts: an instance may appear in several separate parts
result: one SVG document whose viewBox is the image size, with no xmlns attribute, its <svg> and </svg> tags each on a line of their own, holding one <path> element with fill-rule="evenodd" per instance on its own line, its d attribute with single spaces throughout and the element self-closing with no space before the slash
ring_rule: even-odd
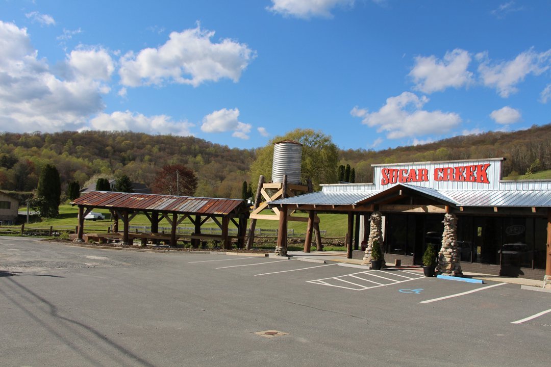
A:
<svg viewBox="0 0 551 367">
<path fill-rule="evenodd" d="M 361 139 L 366 141 L 369 139 Z M 341 150 L 341 163 L 355 168 L 356 182 L 371 182 L 372 164 L 505 157 L 504 176 L 551 169 L 551 124 L 512 133 L 456 136 L 435 143 L 387 150 Z M 132 132 L 1 133 L 0 190 L 31 191 L 42 167 L 60 172 L 63 190 L 98 177 L 126 174 L 152 185 L 165 165 L 182 164 L 196 172 L 197 196 L 240 198 L 255 150 L 229 148 L 192 136 Z M 337 169 L 338 167 L 335 167 Z"/>
</svg>

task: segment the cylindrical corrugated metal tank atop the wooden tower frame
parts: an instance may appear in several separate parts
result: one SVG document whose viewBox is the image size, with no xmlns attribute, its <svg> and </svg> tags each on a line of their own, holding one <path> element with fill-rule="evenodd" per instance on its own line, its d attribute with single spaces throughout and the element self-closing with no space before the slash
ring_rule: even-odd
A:
<svg viewBox="0 0 551 367">
<path fill-rule="evenodd" d="M 287 182 L 300 184 L 300 166 L 302 163 L 302 144 L 294 140 L 283 140 L 274 144 L 272 163 L 272 182 L 283 182 L 287 174 Z"/>
</svg>

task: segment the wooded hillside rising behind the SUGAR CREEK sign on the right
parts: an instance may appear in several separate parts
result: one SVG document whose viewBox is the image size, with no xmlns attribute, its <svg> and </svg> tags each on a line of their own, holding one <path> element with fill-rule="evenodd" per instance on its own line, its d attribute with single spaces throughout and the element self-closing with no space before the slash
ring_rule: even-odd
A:
<svg viewBox="0 0 551 367">
<path fill-rule="evenodd" d="M 386 150 L 344 150 L 341 163 L 355 168 L 356 182 L 372 182 L 372 164 L 505 157 L 503 177 L 551 169 L 551 124 L 516 132 L 455 136 Z"/>
</svg>

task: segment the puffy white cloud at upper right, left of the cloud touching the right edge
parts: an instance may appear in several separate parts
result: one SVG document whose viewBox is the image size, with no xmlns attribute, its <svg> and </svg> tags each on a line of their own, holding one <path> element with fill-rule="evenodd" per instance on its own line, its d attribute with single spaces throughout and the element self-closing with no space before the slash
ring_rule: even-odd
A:
<svg viewBox="0 0 551 367">
<path fill-rule="evenodd" d="M 467 70 L 471 56 L 467 51 L 456 49 L 446 52 L 444 59 L 435 56 L 415 57 L 415 66 L 409 73 L 415 89 L 424 93 L 460 88 L 472 83 L 473 73 Z"/>
</svg>

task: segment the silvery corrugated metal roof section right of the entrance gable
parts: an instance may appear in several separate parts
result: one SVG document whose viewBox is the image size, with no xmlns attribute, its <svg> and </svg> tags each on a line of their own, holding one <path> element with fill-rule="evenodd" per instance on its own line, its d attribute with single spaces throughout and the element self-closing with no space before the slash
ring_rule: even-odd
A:
<svg viewBox="0 0 551 367">
<path fill-rule="evenodd" d="M 440 191 L 458 206 L 550 207 L 551 190 Z"/>
</svg>

